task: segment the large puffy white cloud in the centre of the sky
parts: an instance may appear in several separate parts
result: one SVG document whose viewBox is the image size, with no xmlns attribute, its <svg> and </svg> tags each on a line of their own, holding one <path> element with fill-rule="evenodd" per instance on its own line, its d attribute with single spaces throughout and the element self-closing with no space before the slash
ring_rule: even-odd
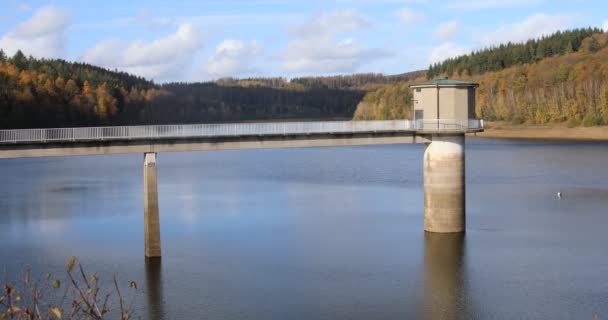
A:
<svg viewBox="0 0 608 320">
<path fill-rule="evenodd" d="M 318 14 L 308 23 L 292 29 L 295 39 L 287 43 L 283 69 L 300 73 L 350 73 L 372 60 L 387 55 L 381 49 L 369 48 L 352 36 L 339 37 L 371 27 L 354 10 Z"/>
</svg>

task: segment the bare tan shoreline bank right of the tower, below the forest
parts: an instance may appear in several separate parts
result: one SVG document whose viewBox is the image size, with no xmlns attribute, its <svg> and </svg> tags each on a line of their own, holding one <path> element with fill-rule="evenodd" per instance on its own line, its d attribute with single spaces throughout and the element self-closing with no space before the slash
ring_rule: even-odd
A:
<svg viewBox="0 0 608 320">
<path fill-rule="evenodd" d="M 478 137 L 506 139 L 552 139 L 608 141 L 608 126 L 574 127 L 564 124 L 546 126 L 510 125 L 501 122 L 485 122 L 485 131 Z"/>
</svg>

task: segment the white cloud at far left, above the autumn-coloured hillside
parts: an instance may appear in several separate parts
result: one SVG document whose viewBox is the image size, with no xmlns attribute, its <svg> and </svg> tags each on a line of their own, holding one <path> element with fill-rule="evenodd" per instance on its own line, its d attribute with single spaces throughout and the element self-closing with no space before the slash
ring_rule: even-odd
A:
<svg viewBox="0 0 608 320">
<path fill-rule="evenodd" d="M 17 50 L 35 57 L 58 58 L 65 54 L 65 31 L 70 14 L 53 6 L 37 9 L 32 17 L 0 38 L 0 48 L 8 55 Z"/>
</svg>

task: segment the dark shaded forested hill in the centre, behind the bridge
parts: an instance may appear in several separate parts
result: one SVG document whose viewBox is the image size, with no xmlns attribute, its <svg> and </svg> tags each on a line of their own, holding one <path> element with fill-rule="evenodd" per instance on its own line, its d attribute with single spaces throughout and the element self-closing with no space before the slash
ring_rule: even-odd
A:
<svg viewBox="0 0 608 320">
<path fill-rule="evenodd" d="M 365 92 L 312 88 L 165 84 L 146 123 L 232 122 L 269 119 L 349 119 Z"/>
</svg>

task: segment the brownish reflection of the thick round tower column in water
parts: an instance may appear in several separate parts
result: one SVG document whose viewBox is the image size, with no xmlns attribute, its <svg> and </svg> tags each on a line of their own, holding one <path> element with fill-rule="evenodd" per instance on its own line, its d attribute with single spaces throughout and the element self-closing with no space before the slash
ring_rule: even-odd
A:
<svg viewBox="0 0 608 320">
<path fill-rule="evenodd" d="M 424 318 L 466 319 L 464 234 L 424 233 Z"/>
</svg>

